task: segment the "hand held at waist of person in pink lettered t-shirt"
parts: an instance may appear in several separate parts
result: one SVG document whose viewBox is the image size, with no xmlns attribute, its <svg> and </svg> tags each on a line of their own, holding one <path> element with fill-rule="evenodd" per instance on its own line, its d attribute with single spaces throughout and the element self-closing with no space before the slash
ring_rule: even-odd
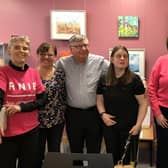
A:
<svg viewBox="0 0 168 168">
<path fill-rule="evenodd" d="M 8 116 L 12 116 L 17 112 L 21 111 L 21 107 L 17 104 L 6 104 L 6 113 Z"/>
</svg>

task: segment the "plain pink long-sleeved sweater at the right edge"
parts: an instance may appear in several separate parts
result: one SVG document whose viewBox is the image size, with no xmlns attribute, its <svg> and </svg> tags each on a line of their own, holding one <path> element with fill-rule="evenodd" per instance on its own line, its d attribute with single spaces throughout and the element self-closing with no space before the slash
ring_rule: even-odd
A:
<svg viewBox="0 0 168 168">
<path fill-rule="evenodd" d="M 148 96 L 154 116 L 161 114 L 159 105 L 168 108 L 168 55 L 159 57 L 153 66 Z"/>
</svg>

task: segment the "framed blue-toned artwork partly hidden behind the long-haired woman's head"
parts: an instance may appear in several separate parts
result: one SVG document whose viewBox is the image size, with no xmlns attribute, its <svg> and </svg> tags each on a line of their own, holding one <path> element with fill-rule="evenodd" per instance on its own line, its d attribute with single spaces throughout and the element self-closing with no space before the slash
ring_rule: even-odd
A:
<svg viewBox="0 0 168 168">
<path fill-rule="evenodd" d="M 109 56 L 112 48 L 109 49 Z M 129 52 L 129 67 L 130 69 L 140 75 L 145 76 L 145 49 L 144 48 L 128 48 Z"/>
</svg>

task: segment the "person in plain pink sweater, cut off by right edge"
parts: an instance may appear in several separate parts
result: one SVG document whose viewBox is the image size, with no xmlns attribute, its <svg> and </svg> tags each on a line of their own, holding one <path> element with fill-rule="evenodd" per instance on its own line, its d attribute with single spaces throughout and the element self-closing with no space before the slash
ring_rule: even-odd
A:
<svg viewBox="0 0 168 168">
<path fill-rule="evenodd" d="M 168 38 L 167 38 L 168 49 Z M 148 96 L 157 132 L 157 168 L 168 167 L 168 54 L 158 58 L 150 74 Z"/>
</svg>

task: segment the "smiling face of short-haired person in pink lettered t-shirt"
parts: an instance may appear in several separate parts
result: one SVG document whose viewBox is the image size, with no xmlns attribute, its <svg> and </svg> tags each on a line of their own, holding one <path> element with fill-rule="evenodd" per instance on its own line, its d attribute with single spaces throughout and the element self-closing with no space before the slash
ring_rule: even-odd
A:
<svg viewBox="0 0 168 168">
<path fill-rule="evenodd" d="M 30 56 L 30 46 L 26 42 L 16 41 L 8 51 L 12 63 L 23 68 Z"/>
</svg>

